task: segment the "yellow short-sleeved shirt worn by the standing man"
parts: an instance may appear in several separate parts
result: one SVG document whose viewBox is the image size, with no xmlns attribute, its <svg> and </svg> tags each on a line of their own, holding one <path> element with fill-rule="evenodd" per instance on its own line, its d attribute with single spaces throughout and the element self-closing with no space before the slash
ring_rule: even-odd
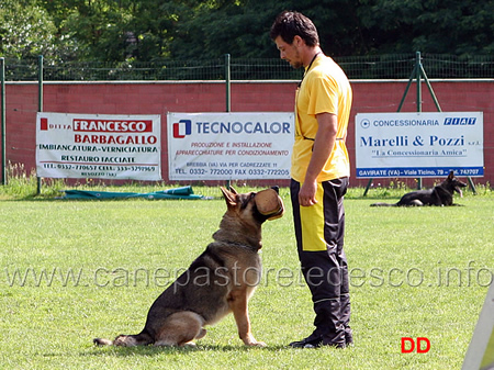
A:
<svg viewBox="0 0 494 370">
<path fill-rule="evenodd" d="M 317 56 L 297 89 L 295 98 L 295 143 L 292 152 L 291 177 L 299 182 L 305 179 L 312 147 L 317 133 L 316 114 L 333 113 L 338 117 L 335 147 L 318 182 L 350 176 L 350 160 L 346 147 L 348 120 L 351 108 L 351 87 L 343 69 L 330 58 Z"/>
</svg>

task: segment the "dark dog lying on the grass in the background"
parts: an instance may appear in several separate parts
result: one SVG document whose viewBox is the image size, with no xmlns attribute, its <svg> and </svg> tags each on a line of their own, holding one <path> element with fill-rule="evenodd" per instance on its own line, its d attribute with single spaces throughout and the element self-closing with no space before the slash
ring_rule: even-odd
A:
<svg viewBox="0 0 494 370">
<path fill-rule="evenodd" d="M 422 205 L 458 205 L 453 204 L 452 197 L 454 191 L 463 197 L 461 188 L 467 183 L 461 182 L 454 177 L 453 171 L 449 172 L 448 178 L 440 184 L 429 190 L 418 190 L 406 193 L 397 203 L 373 203 L 371 206 L 422 206 Z"/>
</svg>

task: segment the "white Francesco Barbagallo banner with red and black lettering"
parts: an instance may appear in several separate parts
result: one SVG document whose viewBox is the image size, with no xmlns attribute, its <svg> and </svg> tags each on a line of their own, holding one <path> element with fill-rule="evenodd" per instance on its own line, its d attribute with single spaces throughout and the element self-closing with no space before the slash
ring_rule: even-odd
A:
<svg viewBox="0 0 494 370">
<path fill-rule="evenodd" d="M 36 175 L 161 180 L 160 115 L 37 113 Z"/>
</svg>

